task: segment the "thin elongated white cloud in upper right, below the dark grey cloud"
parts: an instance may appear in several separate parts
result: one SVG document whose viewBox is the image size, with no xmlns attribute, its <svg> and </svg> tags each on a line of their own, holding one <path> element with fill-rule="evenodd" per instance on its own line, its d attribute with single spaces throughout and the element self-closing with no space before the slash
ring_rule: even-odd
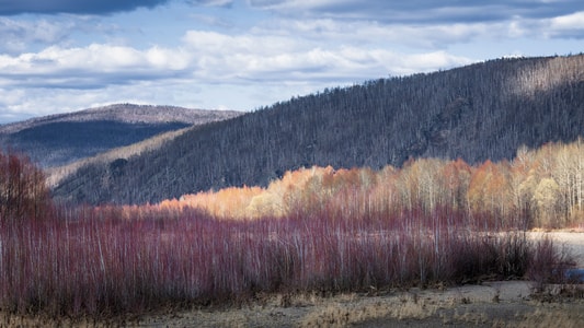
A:
<svg viewBox="0 0 584 328">
<path fill-rule="evenodd" d="M 304 43 L 311 42 L 327 47 L 352 45 L 369 49 L 410 48 L 412 51 L 432 51 L 444 50 L 455 44 L 523 37 L 531 33 L 530 27 L 524 21 L 411 25 L 314 19 L 271 21 L 256 26 L 254 32 L 302 38 Z"/>
</svg>

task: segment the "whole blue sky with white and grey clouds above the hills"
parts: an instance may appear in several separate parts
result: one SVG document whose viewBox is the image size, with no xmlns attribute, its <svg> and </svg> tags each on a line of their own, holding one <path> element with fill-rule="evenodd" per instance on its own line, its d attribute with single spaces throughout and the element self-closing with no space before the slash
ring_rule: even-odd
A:
<svg viewBox="0 0 584 328">
<path fill-rule="evenodd" d="M 582 0 L 0 0 L 0 124 L 116 103 L 254 110 L 583 40 Z"/>
</svg>

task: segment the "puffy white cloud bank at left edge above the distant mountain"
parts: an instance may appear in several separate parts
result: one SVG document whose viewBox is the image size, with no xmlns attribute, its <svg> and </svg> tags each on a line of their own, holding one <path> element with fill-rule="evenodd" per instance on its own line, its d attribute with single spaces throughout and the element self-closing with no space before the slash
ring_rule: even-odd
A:
<svg viewBox="0 0 584 328">
<path fill-rule="evenodd" d="M 150 79 L 172 79 L 188 65 L 180 49 L 92 44 L 49 47 L 39 52 L 0 56 L 0 86 L 99 89 Z"/>
</svg>

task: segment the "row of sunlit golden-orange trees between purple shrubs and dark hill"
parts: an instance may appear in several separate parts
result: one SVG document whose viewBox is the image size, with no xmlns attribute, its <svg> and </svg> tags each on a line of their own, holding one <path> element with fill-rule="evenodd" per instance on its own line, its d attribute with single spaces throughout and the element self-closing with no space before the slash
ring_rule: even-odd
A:
<svg viewBox="0 0 584 328">
<path fill-rule="evenodd" d="M 197 208 L 227 219 L 333 213 L 348 220 L 419 210 L 430 215 L 450 209 L 482 218 L 479 224 L 484 229 L 582 226 L 584 142 L 548 143 L 537 150 L 523 147 L 511 162 L 476 165 L 460 159 L 419 159 L 402 168 L 380 171 L 313 166 L 286 172 L 266 188 L 231 187 L 185 195 L 156 208 L 169 214 Z"/>
</svg>

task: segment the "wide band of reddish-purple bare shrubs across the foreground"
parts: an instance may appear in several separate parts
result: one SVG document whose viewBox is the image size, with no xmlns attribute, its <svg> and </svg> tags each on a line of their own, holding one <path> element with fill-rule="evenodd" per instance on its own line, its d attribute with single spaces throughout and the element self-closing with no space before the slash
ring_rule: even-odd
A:
<svg viewBox="0 0 584 328">
<path fill-rule="evenodd" d="M 256 293 L 457 283 L 523 277 L 541 257 L 523 233 L 479 230 L 483 219 L 445 208 L 253 221 L 197 211 L 165 220 L 94 209 L 55 216 L 1 223 L 2 311 L 108 316 Z"/>
</svg>

